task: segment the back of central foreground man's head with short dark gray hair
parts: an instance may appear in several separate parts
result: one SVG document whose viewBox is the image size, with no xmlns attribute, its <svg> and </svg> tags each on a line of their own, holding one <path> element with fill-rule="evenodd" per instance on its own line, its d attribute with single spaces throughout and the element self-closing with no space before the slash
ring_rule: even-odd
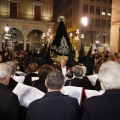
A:
<svg viewBox="0 0 120 120">
<path fill-rule="evenodd" d="M 51 71 L 46 78 L 47 87 L 51 90 L 60 90 L 64 84 L 64 76 L 58 70 Z"/>
</svg>

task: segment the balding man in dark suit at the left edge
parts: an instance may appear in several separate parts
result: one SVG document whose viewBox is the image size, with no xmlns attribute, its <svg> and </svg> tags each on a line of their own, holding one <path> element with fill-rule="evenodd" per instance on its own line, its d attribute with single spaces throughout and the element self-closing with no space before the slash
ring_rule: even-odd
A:
<svg viewBox="0 0 120 120">
<path fill-rule="evenodd" d="M 0 63 L 0 120 L 18 120 L 20 103 L 17 95 L 6 86 L 11 76 L 11 68 L 5 63 Z"/>
</svg>

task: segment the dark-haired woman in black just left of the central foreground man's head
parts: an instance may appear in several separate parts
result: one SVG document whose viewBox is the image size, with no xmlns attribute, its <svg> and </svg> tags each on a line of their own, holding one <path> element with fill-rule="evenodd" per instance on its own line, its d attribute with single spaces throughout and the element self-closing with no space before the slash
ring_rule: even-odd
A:
<svg viewBox="0 0 120 120">
<path fill-rule="evenodd" d="M 54 68 L 48 64 L 42 65 L 38 70 L 39 80 L 33 81 L 32 86 L 36 87 L 37 89 L 41 90 L 42 92 L 47 93 L 47 87 L 45 86 L 44 82 L 45 82 L 45 79 L 46 79 L 46 76 L 48 75 L 48 73 L 50 71 L 52 71 L 53 69 Z"/>
</svg>

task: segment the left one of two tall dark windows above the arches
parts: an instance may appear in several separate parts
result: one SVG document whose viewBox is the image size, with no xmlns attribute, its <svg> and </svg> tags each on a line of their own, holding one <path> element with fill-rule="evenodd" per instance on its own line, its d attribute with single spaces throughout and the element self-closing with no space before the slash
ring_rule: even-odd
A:
<svg viewBox="0 0 120 120">
<path fill-rule="evenodd" d="M 17 3 L 10 2 L 10 18 L 17 18 Z"/>
</svg>

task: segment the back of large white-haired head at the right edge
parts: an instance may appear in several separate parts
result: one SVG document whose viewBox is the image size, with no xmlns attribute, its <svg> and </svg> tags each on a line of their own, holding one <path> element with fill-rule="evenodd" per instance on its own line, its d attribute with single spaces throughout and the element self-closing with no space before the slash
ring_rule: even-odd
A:
<svg viewBox="0 0 120 120">
<path fill-rule="evenodd" d="M 108 61 L 101 65 L 98 72 L 101 87 L 107 89 L 120 89 L 120 64 Z"/>
</svg>

